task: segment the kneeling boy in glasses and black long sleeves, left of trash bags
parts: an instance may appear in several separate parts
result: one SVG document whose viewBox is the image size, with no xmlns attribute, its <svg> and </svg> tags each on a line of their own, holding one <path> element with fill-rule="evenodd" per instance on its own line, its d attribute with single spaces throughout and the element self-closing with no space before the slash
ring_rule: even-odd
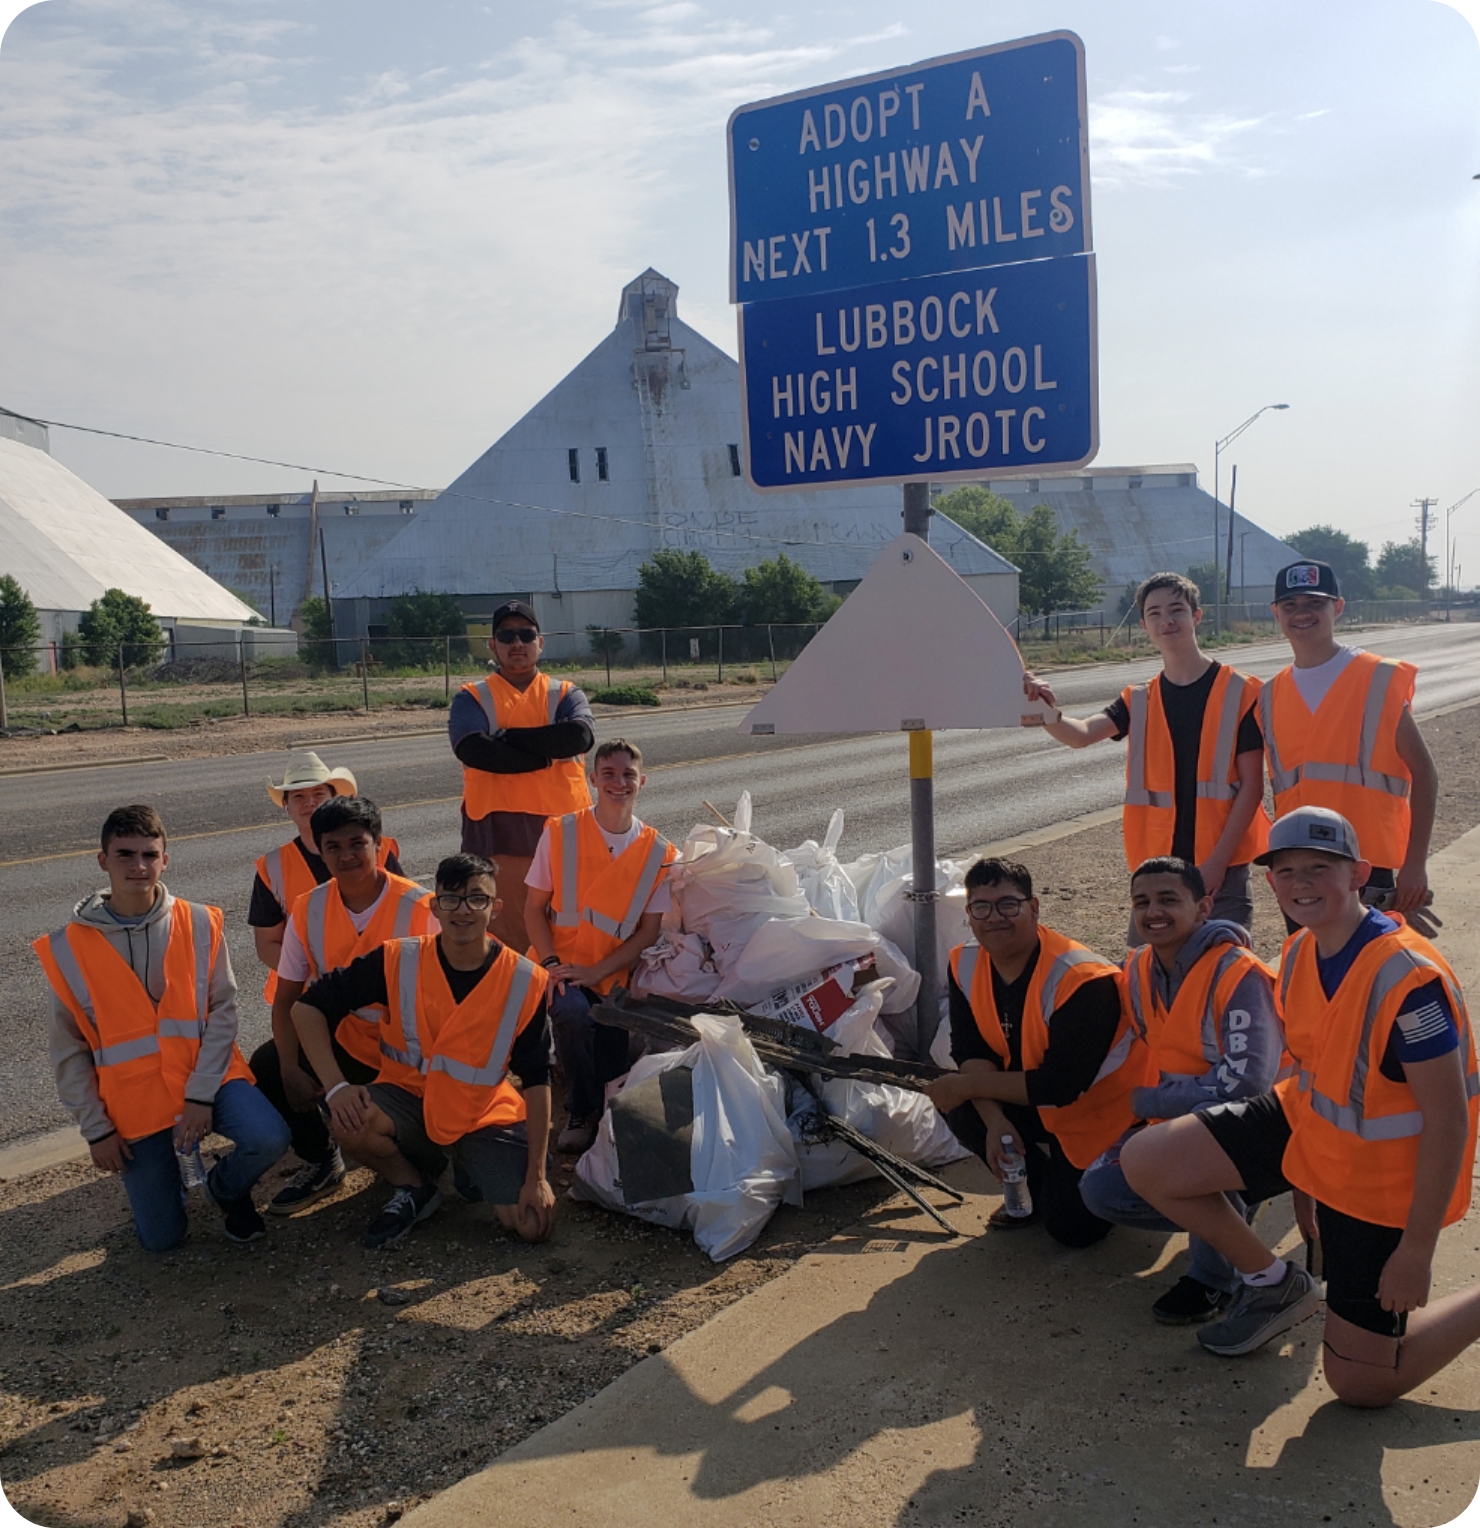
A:
<svg viewBox="0 0 1480 1528">
<path fill-rule="evenodd" d="M 489 932 L 502 906 L 489 860 L 444 859 L 432 906 L 440 934 L 389 940 L 293 1004 L 339 1144 L 396 1190 L 365 1245 L 394 1247 L 437 1210 L 449 1157 L 463 1198 L 493 1206 L 524 1241 L 544 1241 L 554 1229 L 548 978 Z M 354 1085 L 330 1025 L 371 1004 L 383 1004 L 380 1071 Z"/>
</svg>

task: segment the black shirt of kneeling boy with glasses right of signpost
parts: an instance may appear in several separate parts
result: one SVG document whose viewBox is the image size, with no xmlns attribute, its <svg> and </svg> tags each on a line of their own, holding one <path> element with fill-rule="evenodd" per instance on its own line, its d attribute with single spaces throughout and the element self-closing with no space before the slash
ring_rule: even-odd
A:
<svg viewBox="0 0 1480 1528">
<path fill-rule="evenodd" d="M 997 1018 L 1007 1038 L 1007 1056 L 999 1056 L 987 1044 L 976 1027 L 970 999 L 956 984 L 955 972 L 950 973 L 950 1053 L 958 1067 L 979 1059 L 996 1062 L 1003 1071 L 1023 1070 L 1023 1004 L 1028 1001 L 1028 986 L 1040 955 L 1042 946 L 1034 950 L 1016 981 L 1003 981 L 996 969 L 991 972 L 991 996 L 997 1004 Z M 1028 1102 L 1034 1108 L 1045 1105 L 1055 1108 L 1074 1103 L 1087 1093 L 1106 1056 L 1110 1054 L 1120 1018 L 1120 986 L 1113 976 L 1095 976 L 1086 981 L 1060 1004 L 1049 1025 L 1043 1060 L 1026 1073 Z"/>
</svg>

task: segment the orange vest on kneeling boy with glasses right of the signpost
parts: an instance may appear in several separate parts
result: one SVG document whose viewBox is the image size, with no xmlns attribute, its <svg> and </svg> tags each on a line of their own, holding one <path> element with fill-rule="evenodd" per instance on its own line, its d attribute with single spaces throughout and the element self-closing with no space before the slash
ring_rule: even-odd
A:
<svg viewBox="0 0 1480 1528">
<path fill-rule="evenodd" d="M 950 969 L 956 986 L 971 1004 L 971 1016 L 982 1039 L 1005 1059 L 1008 1044 L 1002 1019 L 997 1016 L 997 1002 L 991 995 L 991 958 L 974 941 L 958 944 L 950 952 Z M 1097 976 L 1120 976 L 1120 969 L 1083 944 L 1065 938 L 1063 934 L 1039 929 L 1039 963 L 1023 1002 L 1023 1071 L 1032 1071 L 1043 1063 L 1058 1005 Z M 1039 1108 L 1039 1118 L 1045 1129 L 1058 1138 L 1069 1161 L 1075 1167 L 1087 1167 L 1100 1152 L 1136 1123 L 1130 1094 L 1132 1089 L 1142 1086 L 1149 1076 L 1146 1047 L 1136 1042 L 1129 1015 L 1121 1004 L 1115 1042 L 1095 1080 L 1074 1103 Z"/>
</svg>

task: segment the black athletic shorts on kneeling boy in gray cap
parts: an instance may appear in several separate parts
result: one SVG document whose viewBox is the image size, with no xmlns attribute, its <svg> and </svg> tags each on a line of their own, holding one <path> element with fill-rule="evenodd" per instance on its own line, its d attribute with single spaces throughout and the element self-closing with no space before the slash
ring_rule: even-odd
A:
<svg viewBox="0 0 1480 1528">
<path fill-rule="evenodd" d="M 1249 1199 L 1272 1199 L 1289 1190 L 1283 1163 L 1291 1128 L 1272 1093 L 1237 1103 L 1211 1103 L 1196 1112 L 1239 1170 Z M 1320 1203 L 1317 1222 L 1326 1270 L 1326 1309 L 1362 1331 L 1402 1337 L 1407 1316 L 1384 1311 L 1378 1299 L 1378 1280 L 1402 1232 L 1359 1221 Z"/>
</svg>

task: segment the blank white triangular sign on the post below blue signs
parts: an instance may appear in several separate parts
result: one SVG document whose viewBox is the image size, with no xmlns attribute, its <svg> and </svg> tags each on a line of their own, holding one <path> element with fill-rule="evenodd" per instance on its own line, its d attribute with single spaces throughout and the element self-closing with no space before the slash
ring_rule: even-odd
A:
<svg viewBox="0 0 1480 1528">
<path fill-rule="evenodd" d="M 1036 727 L 1023 660 L 976 590 L 913 535 L 863 582 L 741 723 L 741 732 Z"/>
</svg>

